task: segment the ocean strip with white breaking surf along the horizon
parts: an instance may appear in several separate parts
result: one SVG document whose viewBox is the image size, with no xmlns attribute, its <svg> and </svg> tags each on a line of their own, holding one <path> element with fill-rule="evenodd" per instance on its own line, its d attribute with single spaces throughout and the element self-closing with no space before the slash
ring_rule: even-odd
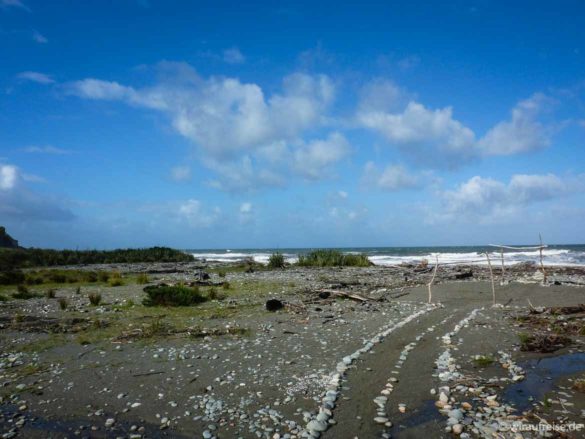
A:
<svg viewBox="0 0 585 439">
<path fill-rule="evenodd" d="M 514 247 L 530 247 L 531 245 L 514 245 Z M 534 246 L 534 245 L 532 245 Z M 310 252 L 310 248 L 280 248 L 280 249 L 223 249 L 223 250 L 186 250 L 197 258 L 208 261 L 237 262 L 253 258 L 256 262 L 267 263 L 270 255 L 280 252 L 288 262 L 296 262 L 300 254 Z M 365 253 L 376 265 L 398 265 L 402 263 L 418 263 L 427 259 L 429 263 L 438 256 L 441 264 L 487 264 L 485 254 L 489 252 L 495 264 L 501 264 L 500 250 L 490 246 L 470 247 L 354 247 L 338 248 L 344 253 Z M 538 250 L 505 250 L 506 265 L 519 262 L 539 261 Z M 585 266 L 585 245 L 549 245 L 543 250 L 545 265 Z"/>
</svg>

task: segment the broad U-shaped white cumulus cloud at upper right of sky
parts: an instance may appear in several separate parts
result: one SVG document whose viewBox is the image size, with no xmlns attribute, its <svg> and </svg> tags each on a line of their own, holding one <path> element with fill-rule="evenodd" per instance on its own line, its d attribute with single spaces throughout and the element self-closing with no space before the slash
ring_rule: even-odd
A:
<svg viewBox="0 0 585 439">
<path fill-rule="evenodd" d="M 431 109 L 410 100 L 397 111 L 400 95 L 394 84 L 372 81 L 362 90 L 356 120 L 428 166 L 454 168 L 472 159 L 526 153 L 550 144 L 550 130 L 539 116 L 552 99 L 542 93 L 518 102 L 510 119 L 496 123 L 483 137 L 458 121 L 451 107 Z"/>
</svg>

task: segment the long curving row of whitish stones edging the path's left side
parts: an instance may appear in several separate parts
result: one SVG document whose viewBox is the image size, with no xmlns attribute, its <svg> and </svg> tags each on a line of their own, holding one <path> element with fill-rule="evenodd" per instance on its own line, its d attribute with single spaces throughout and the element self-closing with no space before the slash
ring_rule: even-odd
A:
<svg viewBox="0 0 585 439">
<path fill-rule="evenodd" d="M 410 314 L 398 323 L 386 325 L 383 327 L 382 331 L 380 331 L 370 340 L 367 340 L 362 348 L 358 349 L 353 354 L 343 357 L 343 359 L 337 363 L 336 372 L 331 374 L 331 379 L 329 380 L 327 391 L 321 400 L 322 404 L 319 407 L 319 413 L 315 418 L 307 422 L 305 430 L 301 432 L 301 437 L 318 438 L 321 433 L 329 428 L 329 420 L 333 416 L 333 409 L 335 408 L 335 402 L 337 401 L 337 398 L 340 394 L 341 383 L 345 377 L 345 372 L 352 365 L 352 363 L 359 359 L 363 354 L 370 352 L 374 346 L 381 343 L 384 338 L 386 338 L 392 332 L 402 328 L 407 323 L 437 308 L 437 305 L 425 304 L 422 309 L 415 312 L 414 314 Z"/>
</svg>

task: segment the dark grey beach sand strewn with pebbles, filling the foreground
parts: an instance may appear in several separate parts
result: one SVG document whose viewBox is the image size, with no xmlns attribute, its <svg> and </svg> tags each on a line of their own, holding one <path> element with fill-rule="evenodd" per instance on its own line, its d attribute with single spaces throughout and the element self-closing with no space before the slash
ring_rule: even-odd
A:
<svg viewBox="0 0 585 439">
<path fill-rule="evenodd" d="M 190 280 L 193 267 L 171 267 L 164 273 L 154 267 L 150 271 L 159 273 L 151 280 Z M 116 268 L 138 272 L 153 267 Z M 286 438 L 316 437 L 325 426 L 326 438 L 453 437 L 453 431 L 446 431 L 451 416 L 435 404 L 440 388 L 450 386 L 452 409 L 461 408 L 465 401 L 473 406 L 464 410 L 457 424 L 462 426 L 460 436 L 489 437 L 482 429 L 489 431 L 495 415 L 478 418 L 478 407 L 485 406 L 489 392 L 496 395 L 500 407 L 506 406 L 506 388 L 517 385 L 498 361 L 502 355 L 509 355 L 514 367 L 534 358 L 584 352 L 585 338 L 580 335 L 551 354 L 521 352 L 518 334 L 533 329 L 519 327 L 514 319 L 528 311 L 528 300 L 537 308 L 585 303 L 585 289 L 574 286 L 582 283 L 583 272 L 551 269 L 549 282 L 560 285 L 541 286 L 540 273 L 533 267 L 511 270 L 511 283 L 496 284 L 497 302 L 505 307 L 492 307 L 485 269 L 474 268 L 468 280 L 452 280 L 466 270 L 440 271 L 441 283 L 433 287 L 434 302 L 440 306 L 433 307 L 426 304 L 425 286 L 411 286 L 428 282 L 430 273 L 411 270 L 405 276 L 403 271 L 380 267 L 228 271 L 231 288 L 220 289 L 228 297 L 195 308 L 143 307 L 142 286 L 129 281 L 115 288 L 84 286 L 81 295 L 73 287 L 58 288 L 57 297 L 69 300 L 66 311 L 59 309 L 56 299 L 0 303 L 0 432 L 3 437 L 27 438 Z M 212 280 L 222 279 L 212 274 Z M 307 304 L 316 297 L 311 292 L 320 288 L 376 300 Z M 92 291 L 101 292 L 104 305 L 89 306 L 86 296 Z M 270 297 L 291 306 L 267 312 L 264 302 Z M 443 336 L 473 312 L 473 319 L 446 345 Z M 420 315 L 410 317 L 415 313 Z M 46 333 L 46 325 L 54 321 L 65 322 L 64 327 L 73 331 L 67 320 L 71 318 L 80 319 L 77 325 L 82 330 Z M 239 331 L 201 334 L 227 328 Z M 388 335 L 376 339 L 384 331 Z M 368 345 L 372 339 L 374 343 Z M 410 343 L 415 344 L 405 354 Z M 342 368 L 346 370 L 338 376 L 333 401 L 323 402 L 327 390 L 332 392 L 332 377 L 340 363 L 343 366 L 345 358 L 364 346 L 370 349 L 348 358 Z M 446 349 L 458 377 L 444 382 L 437 362 Z M 476 355 L 495 361 L 479 367 L 473 361 Z M 537 395 L 542 398 L 529 402 L 524 411 L 552 424 L 585 422 L 585 394 L 572 388 L 577 378 L 585 378 L 585 361 L 574 358 L 583 363 L 577 367 L 580 371 L 550 380 L 553 384 L 546 395 Z M 530 373 L 524 371 L 522 381 L 528 382 Z M 390 381 L 393 390 L 378 408 L 373 400 L 381 396 L 390 378 L 395 378 Z M 496 378 L 506 381 L 493 386 Z M 461 383 L 472 390 L 481 383 L 490 386 L 470 396 L 455 391 Z M 320 408 L 322 415 L 317 418 Z M 512 409 L 510 414 L 519 415 L 522 422 L 538 423 L 538 418 L 523 417 L 522 411 Z M 384 418 L 386 425 L 380 422 Z M 459 427 L 448 428 L 459 433 Z M 497 434 L 533 437 L 526 432 Z M 572 432 L 568 437 L 585 434 Z"/>
</svg>

